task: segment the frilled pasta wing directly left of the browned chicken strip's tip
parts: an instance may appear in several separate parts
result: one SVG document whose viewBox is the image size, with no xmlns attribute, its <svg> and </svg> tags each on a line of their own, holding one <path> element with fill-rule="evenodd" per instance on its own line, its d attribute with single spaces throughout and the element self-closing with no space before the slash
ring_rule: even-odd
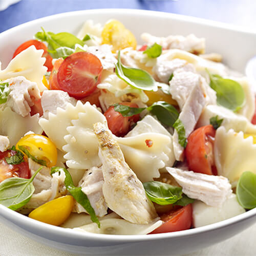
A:
<svg viewBox="0 0 256 256">
<path fill-rule="evenodd" d="M 66 164 L 70 168 L 89 169 L 101 165 L 93 124 L 108 124 L 104 115 L 89 102 L 84 104 L 83 110 L 83 113 L 78 113 L 77 120 L 71 121 L 72 125 L 67 128 L 68 135 L 64 137 L 68 143 L 63 146 L 63 150 L 67 152 L 64 158 L 67 159 Z"/>
</svg>

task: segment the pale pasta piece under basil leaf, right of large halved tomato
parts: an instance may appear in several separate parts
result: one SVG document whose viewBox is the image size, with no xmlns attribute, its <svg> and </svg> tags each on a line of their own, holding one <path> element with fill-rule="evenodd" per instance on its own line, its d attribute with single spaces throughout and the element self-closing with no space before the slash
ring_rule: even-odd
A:
<svg viewBox="0 0 256 256">
<path fill-rule="evenodd" d="M 132 88 L 122 79 L 120 79 L 116 74 L 111 74 L 105 79 L 101 80 L 97 87 L 99 89 L 110 91 L 115 95 L 115 97 L 120 97 L 122 95 L 131 93 L 139 97 L 142 102 L 148 101 L 148 97 L 142 90 Z"/>
</svg>

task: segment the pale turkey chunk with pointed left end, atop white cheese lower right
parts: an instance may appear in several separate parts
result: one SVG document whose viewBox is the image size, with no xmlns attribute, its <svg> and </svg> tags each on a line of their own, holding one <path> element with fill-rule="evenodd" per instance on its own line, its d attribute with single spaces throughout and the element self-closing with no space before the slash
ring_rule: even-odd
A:
<svg viewBox="0 0 256 256">
<path fill-rule="evenodd" d="M 181 185 L 182 192 L 190 198 L 198 199 L 209 206 L 219 207 L 232 194 L 227 178 L 193 171 L 166 167 L 168 173 Z"/>
</svg>

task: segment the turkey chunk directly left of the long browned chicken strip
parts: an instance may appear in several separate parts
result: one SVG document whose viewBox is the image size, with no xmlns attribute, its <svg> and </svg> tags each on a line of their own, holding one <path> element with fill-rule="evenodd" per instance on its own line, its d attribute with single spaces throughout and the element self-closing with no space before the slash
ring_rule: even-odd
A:
<svg viewBox="0 0 256 256">
<path fill-rule="evenodd" d="M 103 183 L 102 169 L 98 167 L 89 169 L 78 183 L 78 186 L 82 188 L 83 193 L 87 195 L 95 214 L 98 217 L 103 217 L 108 213 L 108 206 L 106 206 L 102 192 Z M 77 202 L 75 202 L 75 211 L 77 211 L 78 214 L 87 212 L 86 209 Z"/>
</svg>

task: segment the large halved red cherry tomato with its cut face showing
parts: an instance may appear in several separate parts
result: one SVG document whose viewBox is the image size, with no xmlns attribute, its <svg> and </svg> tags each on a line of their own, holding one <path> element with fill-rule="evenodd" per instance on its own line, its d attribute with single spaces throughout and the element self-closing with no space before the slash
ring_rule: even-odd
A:
<svg viewBox="0 0 256 256">
<path fill-rule="evenodd" d="M 60 90 L 81 99 L 93 93 L 100 82 L 103 67 L 100 60 L 89 52 L 76 52 L 60 65 L 57 81 Z"/>
</svg>

